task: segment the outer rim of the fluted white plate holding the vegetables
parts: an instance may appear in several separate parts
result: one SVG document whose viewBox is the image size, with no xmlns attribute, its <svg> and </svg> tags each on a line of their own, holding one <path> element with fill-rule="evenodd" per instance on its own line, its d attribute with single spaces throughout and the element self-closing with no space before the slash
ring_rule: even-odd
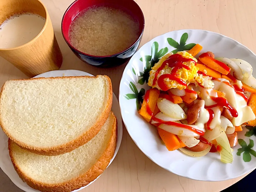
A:
<svg viewBox="0 0 256 192">
<path fill-rule="evenodd" d="M 144 45 L 142 45 L 142 46 L 136 51 L 136 53 L 139 52 L 139 51 L 141 51 L 141 50 L 143 50 L 143 48 L 146 47 L 146 46 L 148 46 L 148 45 L 150 44 L 150 42 L 153 42 L 155 39 L 157 39 L 157 38 L 159 38 L 159 37 L 161 37 L 161 36 L 167 35 L 167 34 L 169 34 L 169 33 L 179 33 L 179 32 L 180 32 L 180 33 L 187 33 L 188 31 L 192 31 L 193 33 L 195 33 L 196 31 L 202 31 L 202 32 L 204 31 L 204 32 L 206 32 L 206 33 L 212 33 L 212 34 L 215 34 L 215 35 L 220 35 L 220 36 L 222 36 L 222 37 L 224 37 L 224 38 L 227 38 L 227 39 L 229 39 L 229 40 L 231 40 L 231 41 L 233 41 L 233 42 L 236 42 L 239 46 L 245 48 L 247 51 L 250 52 L 250 54 L 252 54 L 252 55 L 254 55 L 254 57 L 256 57 L 256 54 L 255 54 L 253 51 L 251 51 L 248 47 L 246 47 L 246 46 L 243 45 L 242 43 L 236 41 L 235 39 L 233 39 L 233 38 L 231 38 L 231 37 L 228 37 L 228 36 L 226 36 L 226 35 L 223 35 L 223 34 L 214 32 L 214 31 L 202 30 L 202 29 L 181 29 L 181 30 L 174 30 L 174 31 L 169 31 L 169 32 L 163 33 L 163 34 L 158 35 L 158 36 L 156 36 L 156 37 L 150 39 L 149 41 L 147 41 Z M 150 46 L 151 46 L 151 44 L 150 44 Z M 123 70 L 123 74 L 122 74 L 122 77 L 121 77 L 121 80 L 120 80 L 120 84 L 119 84 L 119 95 L 118 95 L 119 101 L 122 101 L 121 97 L 122 97 L 123 95 L 121 94 L 121 85 L 122 85 L 122 82 L 123 82 L 124 79 L 125 79 L 125 78 L 124 78 L 125 72 L 127 72 L 127 70 L 129 69 L 129 67 L 131 67 L 131 65 L 132 65 L 132 60 L 133 60 L 133 58 L 135 57 L 136 53 L 131 57 L 131 59 L 129 60 L 129 62 L 128 62 L 127 65 L 125 66 L 125 69 Z M 151 158 L 149 154 L 145 153 L 145 152 L 141 149 L 141 147 L 138 146 L 138 142 L 135 141 L 135 139 L 131 136 L 129 129 L 127 128 L 127 123 L 124 121 L 123 116 L 124 116 L 124 114 L 125 114 L 125 113 L 124 113 L 125 109 L 122 109 L 120 102 L 119 102 L 119 107 L 120 107 L 120 111 L 121 111 L 123 123 L 124 123 L 124 125 L 125 125 L 125 127 L 126 127 L 126 130 L 127 130 L 128 134 L 130 135 L 131 139 L 133 140 L 133 142 L 134 142 L 134 143 L 136 144 L 136 146 L 139 148 L 139 150 L 141 150 L 143 154 L 145 154 L 151 161 L 153 161 L 153 162 L 154 162 L 155 164 L 157 164 L 159 167 L 161 167 L 161 168 L 163 168 L 163 169 L 165 169 L 165 170 L 167 170 L 167 171 L 169 171 L 169 172 L 171 172 L 171 173 L 173 173 L 173 174 L 175 174 L 175 175 L 178 175 L 178 176 L 181 176 L 181 177 L 185 177 L 185 178 L 189 178 L 189 179 L 193 179 L 193 180 L 197 180 L 197 181 L 216 182 L 216 181 L 226 181 L 226 180 L 229 180 L 229 179 L 238 178 L 238 177 L 241 177 L 242 175 L 248 174 L 248 173 L 250 173 L 251 171 L 253 171 L 253 170 L 256 169 L 256 166 L 255 166 L 254 168 L 252 168 L 252 169 L 250 169 L 250 170 L 247 170 L 247 171 L 246 171 L 245 173 L 243 173 L 243 174 L 239 174 L 239 175 L 237 175 L 237 176 L 235 176 L 235 177 L 231 177 L 231 178 L 228 177 L 228 178 L 225 178 L 225 179 L 218 179 L 218 180 L 216 180 L 216 179 L 205 179 L 205 180 L 202 180 L 202 179 L 192 178 L 192 177 L 187 176 L 187 175 L 182 175 L 182 174 L 174 173 L 173 171 L 171 171 L 170 168 L 168 169 L 167 167 L 164 167 L 164 166 L 159 165 L 159 163 L 157 163 L 155 160 L 153 160 L 153 158 Z"/>
</svg>

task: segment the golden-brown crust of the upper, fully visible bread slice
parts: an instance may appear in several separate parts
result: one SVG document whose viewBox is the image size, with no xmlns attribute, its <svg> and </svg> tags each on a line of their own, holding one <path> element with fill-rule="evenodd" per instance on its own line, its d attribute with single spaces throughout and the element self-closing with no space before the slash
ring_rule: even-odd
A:
<svg viewBox="0 0 256 192">
<path fill-rule="evenodd" d="M 77 149 L 78 147 L 80 147 L 80 146 L 84 145 L 85 143 L 87 143 L 88 141 L 90 141 L 95 135 L 97 135 L 99 130 L 101 129 L 101 127 L 107 121 L 107 118 L 109 116 L 109 113 L 110 113 L 110 110 L 112 107 L 112 100 L 113 100 L 113 90 L 112 90 L 112 83 L 111 83 L 110 78 L 107 75 L 97 75 L 96 77 L 94 77 L 94 76 L 93 77 L 91 77 L 91 76 L 68 76 L 68 77 L 48 77 L 48 78 L 39 77 L 39 78 L 31 78 L 31 79 L 9 80 L 9 81 L 33 81 L 33 80 L 38 80 L 38 79 L 98 78 L 100 76 L 104 76 L 109 84 L 108 91 L 107 91 L 109 94 L 109 99 L 107 100 L 106 108 L 102 112 L 101 117 L 98 119 L 98 121 L 90 129 L 88 129 L 85 133 L 83 133 L 78 138 L 74 139 L 73 141 L 70 141 L 70 142 L 62 144 L 62 145 L 46 147 L 46 148 L 27 145 L 26 143 L 20 142 L 17 139 L 15 139 L 14 137 L 12 137 L 11 133 L 9 133 L 5 129 L 5 126 L 3 126 L 3 123 L 2 123 L 1 111 L 0 111 L 0 126 L 2 127 L 2 130 L 12 141 L 14 141 L 22 149 L 25 149 L 25 150 L 30 151 L 35 154 L 54 156 L 54 155 L 61 155 L 64 153 L 68 153 L 70 151 L 73 151 L 74 149 Z M 2 89 L 1 89 L 0 102 L 1 102 L 2 92 L 4 89 L 5 89 L 5 83 L 3 84 Z"/>
</svg>

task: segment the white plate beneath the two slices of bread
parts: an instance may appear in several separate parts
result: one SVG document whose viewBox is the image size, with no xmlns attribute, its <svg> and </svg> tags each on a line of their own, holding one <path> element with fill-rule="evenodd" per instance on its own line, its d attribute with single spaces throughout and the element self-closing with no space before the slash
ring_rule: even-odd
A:
<svg viewBox="0 0 256 192">
<path fill-rule="evenodd" d="M 58 71 L 49 71 L 40 75 L 35 76 L 34 78 L 37 77 L 62 77 L 62 76 L 93 76 L 89 73 L 86 73 L 84 71 L 78 71 L 78 70 L 58 70 Z M 117 151 L 121 145 L 122 141 L 122 136 L 123 136 L 123 124 L 122 124 L 122 117 L 120 114 L 120 109 L 118 105 L 118 100 L 115 94 L 113 93 L 113 104 L 111 110 L 114 112 L 115 116 L 117 117 L 117 148 L 115 149 L 115 153 L 113 158 L 110 160 L 109 165 L 111 162 L 114 160 L 115 156 L 117 155 Z M 11 179 L 11 181 L 20 189 L 26 192 L 38 192 L 38 190 L 32 189 L 29 187 L 25 182 L 23 182 L 16 171 L 13 168 L 13 164 L 11 162 L 10 156 L 9 156 L 9 151 L 8 151 L 8 137 L 5 135 L 5 133 L 0 129 L 0 167 L 3 170 L 3 172 Z M 108 166 L 109 166 L 108 165 Z M 100 175 L 99 175 L 100 176 Z M 97 177 L 96 179 L 98 179 Z M 96 180 L 95 179 L 95 180 Z M 94 180 L 94 181 L 95 181 Z M 87 186 L 89 186 L 91 183 L 94 181 L 90 182 Z M 85 187 L 87 187 L 85 186 Z M 85 187 L 81 187 L 80 189 L 74 190 L 79 191 L 81 189 L 84 189 Z"/>
</svg>

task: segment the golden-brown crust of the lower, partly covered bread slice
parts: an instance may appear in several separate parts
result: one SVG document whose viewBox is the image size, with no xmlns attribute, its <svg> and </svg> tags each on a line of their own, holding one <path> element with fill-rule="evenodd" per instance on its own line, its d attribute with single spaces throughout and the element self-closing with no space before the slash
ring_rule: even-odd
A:
<svg viewBox="0 0 256 192">
<path fill-rule="evenodd" d="M 8 140 L 9 155 L 13 163 L 14 169 L 17 171 L 19 177 L 33 189 L 43 191 L 43 192 L 70 192 L 75 189 L 79 189 L 83 186 L 88 185 L 91 181 L 93 181 L 103 173 L 103 171 L 109 165 L 110 159 L 113 157 L 115 153 L 115 149 L 117 146 L 117 118 L 115 117 L 112 111 L 110 113 L 111 115 L 114 116 L 114 123 L 112 126 L 109 143 L 104 153 L 86 173 L 74 179 L 71 179 L 67 182 L 58 183 L 58 184 L 48 184 L 48 183 L 35 181 L 33 178 L 30 178 L 29 176 L 27 176 L 25 173 L 21 171 L 21 169 L 15 162 L 15 158 L 13 157 L 12 150 L 11 150 L 11 142 L 13 141 L 9 139 Z"/>
</svg>

